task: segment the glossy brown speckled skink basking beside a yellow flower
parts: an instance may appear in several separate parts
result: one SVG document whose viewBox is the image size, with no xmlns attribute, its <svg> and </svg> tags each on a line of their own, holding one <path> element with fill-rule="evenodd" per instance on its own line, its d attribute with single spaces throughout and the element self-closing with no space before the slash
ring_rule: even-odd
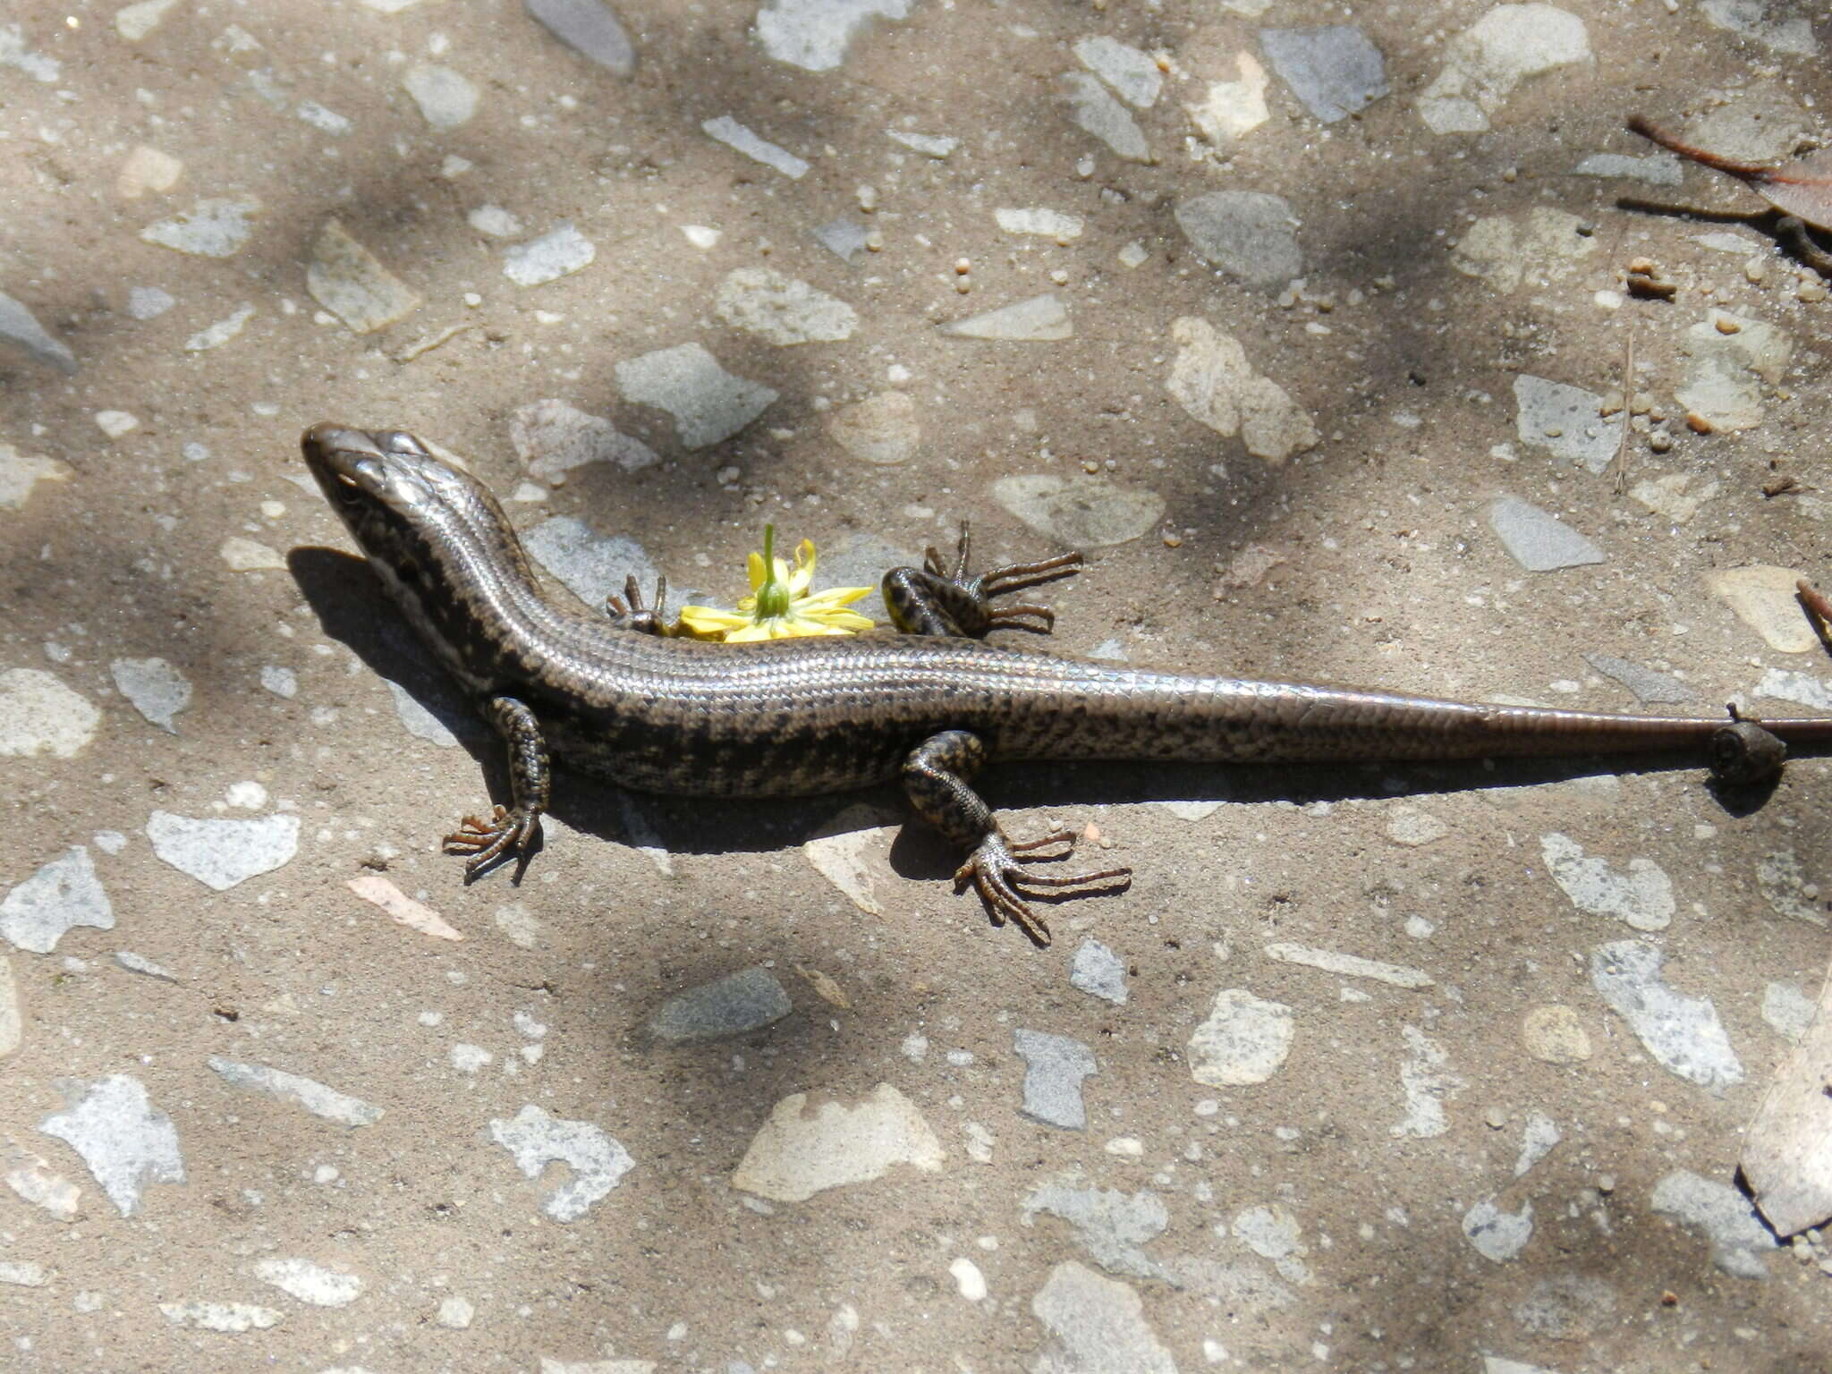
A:
<svg viewBox="0 0 1832 1374">
<path fill-rule="evenodd" d="M 381 584 L 509 749 L 511 806 L 467 817 L 447 848 L 467 876 L 526 850 L 550 795 L 550 755 L 641 791 L 817 795 L 901 779 L 916 813 L 962 846 L 995 921 L 1035 943 L 1039 896 L 1123 887 L 1129 868 L 1072 878 L 1072 832 L 1006 837 L 973 790 L 997 760 L 1348 762 L 1504 755 L 1707 757 L 1728 784 L 1779 769 L 1784 746 L 1832 746 L 1832 718 L 1696 720 L 1515 705 L 1295 682 L 1180 676 L 989 645 L 993 628 L 1048 628 L 1039 606 L 997 605 L 1068 575 L 1079 559 L 969 577 L 885 577 L 900 634 L 744 645 L 658 632 L 652 612 L 592 616 L 542 594 L 502 506 L 399 431 L 315 425 L 306 463 Z"/>
</svg>

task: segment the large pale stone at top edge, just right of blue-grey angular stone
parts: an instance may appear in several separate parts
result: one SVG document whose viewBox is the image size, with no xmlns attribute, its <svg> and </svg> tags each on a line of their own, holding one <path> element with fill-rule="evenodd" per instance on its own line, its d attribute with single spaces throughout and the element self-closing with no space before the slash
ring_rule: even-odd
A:
<svg viewBox="0 0 1832 1374">
<path fill-rule="evenodd" d="M 1444 46 L 1444 68 L 1418 97 L 1433 134 L 1482 134 L 1528 77 L 1588 62 L 1585 22 L 1546 4 L 1495 5 Z"/>
</svg>

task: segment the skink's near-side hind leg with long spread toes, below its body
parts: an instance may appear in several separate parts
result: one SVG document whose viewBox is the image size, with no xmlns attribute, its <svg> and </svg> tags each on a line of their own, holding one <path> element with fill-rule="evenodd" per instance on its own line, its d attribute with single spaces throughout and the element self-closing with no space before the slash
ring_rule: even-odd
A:
<svg viewBox="0 0 1832 1374">
<path fill-rule="evenodd" d="M 1053 830 L 1042 839 L 1011 841 L 993 817 L 991 808 L 967 786 L 967 780 L 986 764 L 986 744 L 978 735 L 949 729 L 918 744 L 903 760 L 903 791 L 916 813 L 947 839 L 967 848 L 967 861 L 954 870 L 954 890 L 967 885 L 980 894 L 995 925 L 1013 921 L 1031 943 L 1050 943 L 1050 927 L 1030 909 L 1026 898 L 1074 896 L 1064 889 L 1123 889 L 1132 881 L 1130 868 L 1107 868 L 1097 874 L 1044 878 L 1022 865 L 1066 859 L 1075 848 L 1074 830 Z M 1039 850 L 1059 845 L 1055 854 Z M 1041 889 L 1041 890 L 1039 890 Z"/>
</svg>

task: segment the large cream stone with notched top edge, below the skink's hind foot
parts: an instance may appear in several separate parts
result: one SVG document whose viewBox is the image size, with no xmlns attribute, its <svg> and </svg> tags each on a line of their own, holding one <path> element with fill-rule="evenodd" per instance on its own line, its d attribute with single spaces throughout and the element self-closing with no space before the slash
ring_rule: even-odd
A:
<svg viewBox="0 0 1832 1374">
<path fill-rule="evenodd" d="M 898 1165 L 942 1171 L 942 1143 L 916 1103 L 879 1083 L 848 1107 L 813 1103 L 795 1092 L 771 1108 L 731 1174 L 731 1185 L 771 1202 L 806 1202 L 815 1193 L 870 1183 Z"/>
</svg>

